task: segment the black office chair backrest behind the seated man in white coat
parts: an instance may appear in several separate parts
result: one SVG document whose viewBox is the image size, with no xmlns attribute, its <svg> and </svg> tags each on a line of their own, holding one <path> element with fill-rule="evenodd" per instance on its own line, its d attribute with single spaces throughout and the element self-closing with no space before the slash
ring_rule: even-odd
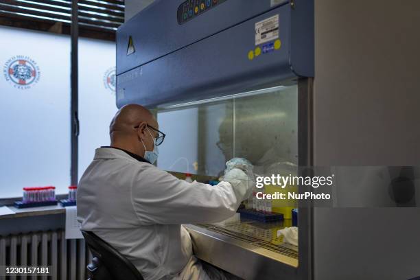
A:
<svg viewBox="0 0 420 280">
<path fill-rule="evenodd" d="M 87 266 L 90 280 L 143 280 L 139 270 L 113 246 L 91 231 L 82 234 L 93 255 Z"/>
</svg>

